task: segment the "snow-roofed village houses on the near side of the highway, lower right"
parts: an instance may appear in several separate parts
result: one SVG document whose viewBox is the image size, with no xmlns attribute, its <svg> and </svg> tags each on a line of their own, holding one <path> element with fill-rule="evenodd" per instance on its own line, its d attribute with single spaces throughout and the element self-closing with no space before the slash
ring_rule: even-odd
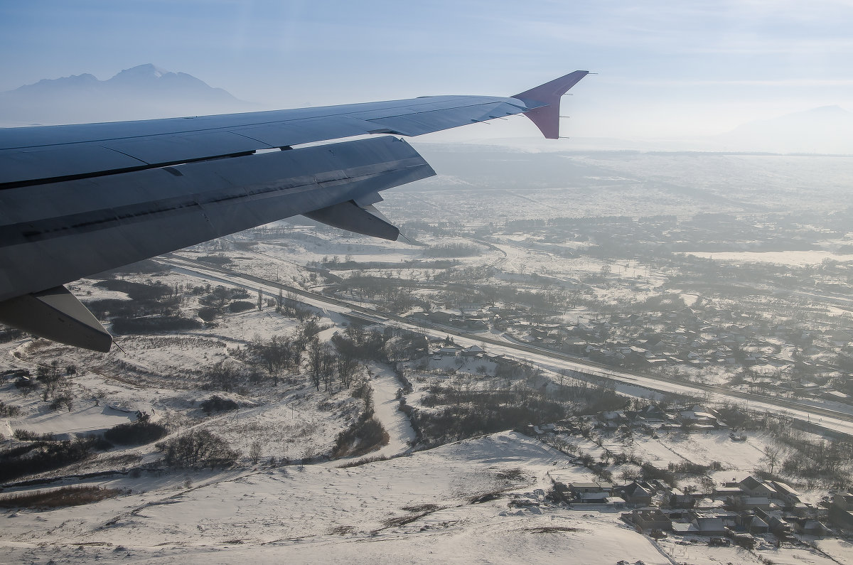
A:
<svg viewBox="0 0 853 565">
<path fill-rule="evenodd" d="M 713 433 L 728 433 L 732 441 L 746 440 L 746 435 L 728 432 L 728 426 L 718 419 L 715 411 L 700 406 L 682 411 L 661 411 L 647 406 L 641 411 L 602 412 L 585 420 L 602 430 L 681 428 L 693 434 L 718 430 Z M 575 418 L 531 427 L 531 433 L 559 449 L 565 446 L 566 438 L 582 434 L 583 423 L 584 418 Z M 675 476 L 670 473 L 666 480 L 640 478 L 625 484 L 606 480 L 563 482 L 560 473 L 551 478 L 555 498 L 573 510 L 595 505 L 627 510 L 622 519 L 656 539 L 676 536 L 693 543 L 734 543 L 751 549 L 757 539 L 771 544 L 793 541 L 807 544 L 811 539 L 843 535 L 853 526 L 853 493 L 844 489 L 827 492 L 817 504 L 812 504 L 804 502 L 797 489 L 778 478 L 747 475 L 740 481 L 716 484 L 704 481 L 703 489 L 689 485 L 678 488 L 673 484 Z"/>
</svg>

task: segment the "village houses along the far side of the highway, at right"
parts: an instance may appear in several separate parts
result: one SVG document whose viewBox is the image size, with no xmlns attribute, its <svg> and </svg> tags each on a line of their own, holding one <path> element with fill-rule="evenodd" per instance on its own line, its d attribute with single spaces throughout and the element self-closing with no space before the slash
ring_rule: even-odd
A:
<svg viewBox="0 0 853 565">
<path fill-rule="evenodd" d="M 792 358 L 782 352 L 796 348 L 801 353 L 802 374 L 792 374 L 789 379 L 759 378 L 745 386 L 764 392 L 778 389 L 775 392 L 853 404 L 853 372 L 839 371 L 833 366 L 833 359 L 848 355 L 853 367 L 853 332 L 804 331 L 781 324 L 759 323 L 738 312 L 717 310 L 712 306 L 616 315 L 576 324 L 549 323 L 542 312 L 525 306 L 479 304 L 415 312 L 411 317 L 472 332 L 496 329 L 517 341 L 629 370 L 709 365 L 723 365 L 733 370 L 766 364 L 783 367 L 792 364 Z M 833 384 L 828 382 L 828 377 L 821 379 L 821 375 L 838 376 L 839 373 L 840 382 L 838 378 Z"/>
</svg>

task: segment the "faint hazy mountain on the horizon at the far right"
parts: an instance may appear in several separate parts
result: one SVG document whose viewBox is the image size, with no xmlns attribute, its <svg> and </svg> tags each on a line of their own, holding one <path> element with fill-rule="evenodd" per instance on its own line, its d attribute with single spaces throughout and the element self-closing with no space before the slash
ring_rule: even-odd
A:
<svg viewBox="0 0 853 565">
<path fill-rule="evenodd" d="M 747 122 L 713 138 L 736 151 L 853 154 L 853 113 L 822 106 Z"/>
</svg>

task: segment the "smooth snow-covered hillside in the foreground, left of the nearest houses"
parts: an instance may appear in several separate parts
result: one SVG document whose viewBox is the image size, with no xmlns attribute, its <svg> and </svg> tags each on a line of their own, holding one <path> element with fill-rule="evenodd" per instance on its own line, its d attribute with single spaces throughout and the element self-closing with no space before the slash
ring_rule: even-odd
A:
<svg viewBox="0 0 853 565">
<path fill-rule="evenodd" d="M 566 514 L 539 503 L 545 474 L 564 464 L 562 454 L 509 433 L 351 469 L 292 466 L 215 481 L 122 478 L 103 484 L 134 493 L 82 513 L 7 512 L 0 543 L 9 562 L 470 562 L 477 556 L 517 563 L 572 556 L 585 563 L 668 563 L 617 515 Z M 475 504 L 490 493 L 496 498 Z M 511 493 L 535 505 L 515 507 Z"/>
</svg>

